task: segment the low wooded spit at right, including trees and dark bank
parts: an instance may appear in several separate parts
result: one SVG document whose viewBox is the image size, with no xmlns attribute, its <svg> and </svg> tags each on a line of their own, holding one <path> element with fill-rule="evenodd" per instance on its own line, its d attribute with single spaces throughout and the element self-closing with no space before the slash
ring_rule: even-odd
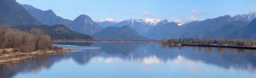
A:
<svg viewBox="0 0 256 78">
<path fill-rule="evenodd" d="M 210 39 L 210 38 L 184 38 L 184 39 L 162 39 L 162 44 L 177 46 L 205 46 L 205 47 L 222 47 L 222 48 L 241 48 L 256 50 L 256 40 L 243 39 Z"/>
</svg>

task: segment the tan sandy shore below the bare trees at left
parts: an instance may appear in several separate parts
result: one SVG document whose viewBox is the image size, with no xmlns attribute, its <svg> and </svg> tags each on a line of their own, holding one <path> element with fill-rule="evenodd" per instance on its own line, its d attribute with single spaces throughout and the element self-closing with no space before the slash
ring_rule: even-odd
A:
<svg viewBox="0 0 256 78">
<path fill-rule="evenodd" d="M 4 51 L 3 51 L 4 50 Z M 72 49 L 61 50 L 35 50 L 32 52 L 15 52 L 13 48 L 0 49 L 0 65 L 36 58 L 37 54 L 68 54 Z"/>
</svg>

